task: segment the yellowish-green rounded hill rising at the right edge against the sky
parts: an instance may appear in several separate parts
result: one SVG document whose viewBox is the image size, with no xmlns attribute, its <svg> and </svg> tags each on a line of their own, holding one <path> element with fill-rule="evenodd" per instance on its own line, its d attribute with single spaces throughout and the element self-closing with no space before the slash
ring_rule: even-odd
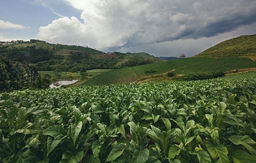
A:
<svg viewBox="0 0 256 163">
<path fill-rule="evenodd" d="M 223 41 L 194 57 L 246 57 L 256 60 L 256 34 Z"/>
</svg>

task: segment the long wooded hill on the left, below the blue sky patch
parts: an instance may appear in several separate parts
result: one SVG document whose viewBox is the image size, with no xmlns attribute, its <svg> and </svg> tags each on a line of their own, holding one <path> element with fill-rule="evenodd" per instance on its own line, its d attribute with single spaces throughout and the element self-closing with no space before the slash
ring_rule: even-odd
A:
<svg viewBox="0 0 256 163">
<path fill-rule="evenodd" d="M 119 53 L 40 40 L 0 42 L 0 55 L 12 61 L 34 64 L 40 71 L 80 71 L 80 69 L 116 69 L 159 62 L 146 53 Z"/>
</svg>

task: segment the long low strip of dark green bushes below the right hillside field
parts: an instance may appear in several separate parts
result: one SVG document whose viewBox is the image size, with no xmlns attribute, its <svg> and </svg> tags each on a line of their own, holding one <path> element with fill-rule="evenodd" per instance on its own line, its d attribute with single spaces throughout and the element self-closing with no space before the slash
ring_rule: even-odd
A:
<svg viewBox="0 0 256 163">
<path fill-rule="evenodd" d="M 212 79 L 225 76 L 224 72 L 210 72 L 210 73 L 201 73 L 201 74 L 187 74 L 181 76 L 181 80 L 189 81 L 189 80 L 204 80 L 204 79 Z"/>
</svg>

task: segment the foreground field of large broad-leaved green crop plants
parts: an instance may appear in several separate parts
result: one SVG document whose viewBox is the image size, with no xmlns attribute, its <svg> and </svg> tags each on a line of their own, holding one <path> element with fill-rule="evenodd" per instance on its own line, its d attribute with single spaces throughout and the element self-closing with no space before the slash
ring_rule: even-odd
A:
<svg viewBox="0 0 256 163">
<path fill-rule="evenodd" d="M 255 163 L 255 111 L 256 72 L 1 93 L 0 160 Z"/>
</svg>

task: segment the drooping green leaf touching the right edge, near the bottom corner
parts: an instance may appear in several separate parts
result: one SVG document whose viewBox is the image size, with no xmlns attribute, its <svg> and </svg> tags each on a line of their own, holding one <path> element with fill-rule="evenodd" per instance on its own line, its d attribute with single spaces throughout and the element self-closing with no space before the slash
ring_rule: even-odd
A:
<svg viewBox="0 0 256 163">
<path fill-rule="evenodd" d="M 255 145 L 256 142 L 252 140 L 248 135 L 245 136 L 231 136 L 229 140 L 235 145 L 244 146 L 251 154 L 256 155 L 256 150 L 249 144 Z"/>
</svg>

